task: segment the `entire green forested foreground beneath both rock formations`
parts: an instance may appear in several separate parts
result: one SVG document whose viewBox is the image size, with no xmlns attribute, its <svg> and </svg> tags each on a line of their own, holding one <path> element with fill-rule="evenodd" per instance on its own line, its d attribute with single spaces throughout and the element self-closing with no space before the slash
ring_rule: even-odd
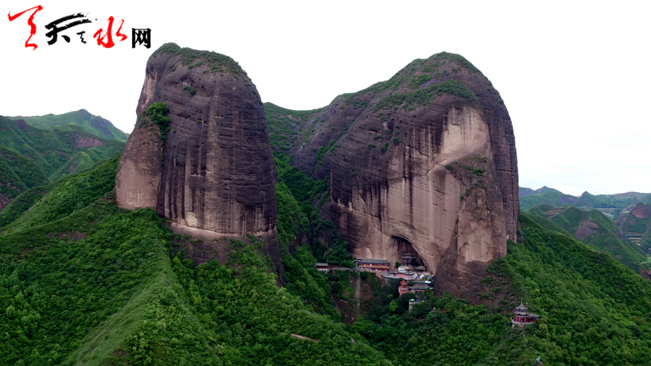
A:
<svg viewBox="0 0 651 366">
<path fill-rule="evenodd" d="M 527 215 L 520 219 L 526 241 L 508 245 L 508 256 L 489 266 L 486 289 L 477 294 L 480 302 L 499 295 L 498 307 L 428 292 L 408 311 L 410 294 L 398 298 L 389 285 L 376 289 L 367 319 L 346 326 L 317 314 L 332 310 L 326 298 L 350 290 L 314 270 L 316 245 L 292 249 L 302 232 L 312 236 L 312 225 L 328 225 L 310 222 L 315 208 L 295 199 L 319 197 L 321 188 L 287 160 L 277 161 L 290 182 L 279 183 L 278 210 L 287 289 L 276 286 L 271 261 L 256 250 L 265 243 L 252 236 L 229 244 L 231 254 L 220 258 L 225 264 L 194 267 L 183 240 L 156 212 L 116 208 L 110 178 L 117 157 L 51 184 L 0 235 L 0 359 L 8 365 L 530 365 L 540 356 L 550 365 L 643 365 L 651 357 L 651 285 L 609 254 Z M 519 298 L 541 315 L 523 330 L 509 321 Z"/>
</svg>

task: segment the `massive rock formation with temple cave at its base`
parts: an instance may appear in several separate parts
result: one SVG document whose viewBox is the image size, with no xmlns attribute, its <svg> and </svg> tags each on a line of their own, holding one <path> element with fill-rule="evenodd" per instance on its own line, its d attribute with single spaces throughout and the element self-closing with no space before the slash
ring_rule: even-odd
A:
<svg viewBox="0 0 651 366">
<path fill-rule="evenodd" d="M 437 290 L 474 295 L 487 263 L 516 239 L 511 119 L 487 77 L 458 55 L 415 60 L 337 97 L 296 141 L 293 164 L 330 175 L 321 214 L 354 256 L 395 263 L 415 252 Z"/>
</svg>

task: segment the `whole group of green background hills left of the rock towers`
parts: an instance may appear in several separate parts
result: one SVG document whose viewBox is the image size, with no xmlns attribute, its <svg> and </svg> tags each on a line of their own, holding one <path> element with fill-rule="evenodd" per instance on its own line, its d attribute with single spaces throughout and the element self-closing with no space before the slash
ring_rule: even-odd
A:
<svg viewBox="0 0 651 366">
<path fill-rule="evenodd" d="M 0 210 L 23 192 L 119 154 L 128 136 L 85 110 L 24 118 L 30 122 L 0 116 Z"/>
</svg>

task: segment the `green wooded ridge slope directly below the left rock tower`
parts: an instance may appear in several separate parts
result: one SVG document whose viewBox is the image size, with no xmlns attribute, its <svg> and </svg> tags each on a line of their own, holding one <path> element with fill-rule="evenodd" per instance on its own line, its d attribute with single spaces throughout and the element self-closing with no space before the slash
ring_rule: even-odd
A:
<svg viewBox="0 0 651 366">
<path fill-rule="evenodd" d="M 112 185 L 88 184 L 114 178 L 115 163 L 61 180 L 26 213 L 51 221 L 32 219 L 14 225 L 25 230 L 0 236 L 0 359 L 390 365 L 369 345 L 350 342 L 343 325 L 279 289 L 269 258 L 256 252 L 265 244 L 253 237 L 230 244 L 226 265 L 195 268 L 184 251 L 170 256 L 173 234 L 156 212 L 119 210 Z M 90 204 L 84 198 L 102 192 Z M 80 203 L 72 211 L 70 198 Z"/>
</svg>

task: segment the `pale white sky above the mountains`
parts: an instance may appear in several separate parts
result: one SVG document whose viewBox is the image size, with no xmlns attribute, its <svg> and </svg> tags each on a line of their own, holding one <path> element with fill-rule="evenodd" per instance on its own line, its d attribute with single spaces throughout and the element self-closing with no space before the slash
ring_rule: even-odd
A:
<svg viewBox="0 0 651 366">
<path fill-rule="evenodd" d="M 131 132 L 149 55 L 165 42 L 238 61 L 262 101 L 328 105 L 415 58 L 459 53 L 487 75 L 511 114 L 519 185 L 580 195 L 651 191 L 651 3 L 648 1 L 14 1 L 0 5 L 0 114 L 84 108 Z M 29 36 L 25 12 L 42 5 Z M 47 45 L 45 25 L 88 13 Z M 111 49 L 93 33 L 124 19 Z M 151 49 L 131 29 L 151 29 Z M 86 31 L 82 44 L 77 32 Z M 116 39 L 114 39 L 116 41 Z"/>
</svg>

